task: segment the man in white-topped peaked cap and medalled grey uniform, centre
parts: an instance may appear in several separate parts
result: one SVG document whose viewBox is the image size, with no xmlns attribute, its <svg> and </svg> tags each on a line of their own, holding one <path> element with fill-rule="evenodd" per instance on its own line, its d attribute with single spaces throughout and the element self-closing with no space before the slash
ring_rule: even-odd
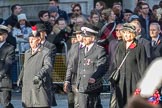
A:
<svg viewBox="0 0 162 108">
<path fill-rule="evenodd" d="M 79 52 L 77 71 L 79 108 L 102 108 L 100 93 L 102 76 L 106 73 L 106 52 L 95 43 L 97 28 L 87 24 L 81 30 L 85 47 Z"/>
</svg>

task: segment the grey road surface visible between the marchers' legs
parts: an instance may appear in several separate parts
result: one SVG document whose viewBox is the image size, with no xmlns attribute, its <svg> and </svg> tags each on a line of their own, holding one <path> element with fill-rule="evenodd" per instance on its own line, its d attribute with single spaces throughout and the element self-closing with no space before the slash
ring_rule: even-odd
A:
<svg viewBox="0 0 162 108">
<path fill-rule="evenodd" d="M 102 94 L 101 95 L 102 105 L 103 108 L 108 108 L 109 104 L 109 95 L 108 94 Z M 56 101 L 57 106 L 52 108 L 68 108 L 67 107 L 67 95 L 66 94 L 56 94 Z M 12 101 L 15 108 L 22 108 L 21 106 L 21 93 L 13 93 Z M 0 106 L 0 108 L 2 108 Z"/>
</svg>

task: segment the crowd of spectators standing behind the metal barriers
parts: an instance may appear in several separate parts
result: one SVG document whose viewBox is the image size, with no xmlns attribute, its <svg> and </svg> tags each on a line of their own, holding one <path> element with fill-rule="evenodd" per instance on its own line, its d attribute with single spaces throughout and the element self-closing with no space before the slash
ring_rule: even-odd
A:
<svg viewBox="0 0 162 108">
<path fill-rule="evenodd" d="M 161 4 L 155 4 L 152 9 L 145 0 L 138 0 L 134 10 L 123 9 L 120 2 L 114 2 L 112 7 L 106 7 L 106 3 L 98 1 L 90 15 L 82 12 L 82 6 L 79 3 L 71 4 L 71 12 L 59 8 L 58 0 L 49 0 L 49 7 L 46 10 L 38 12 L 39 23 L 46 27 L 47 40 L 56 44 L 58 53 L 62 53 L 61 41 L 70 43 L 70 36 L 75 30 L 75 26 L 83 26 L 90 23 L 99 28 L 98 43 L 106 48 L 108 52 L 108 44 L 111 40 L 116 39 L 115 27 L 117 24 L 131 22 L 137 20 L 141 26 L 140 33 L 142 37 L 151 42 L 149 25 L 156 22 L 161 27 Z M 8 41 L 17 47 L 20 52 L 25 52 L 29 45 L 27 43 L 28 36 L 31 33 L 31 25 L 28 21 L 26 13 L 22 13 L 22 6 L 14 4 L 11 7 L 12 14 L 5 20 L 1 21 L 10 27 L 11 33 Z M 19 44 L 18 44 L 19 43 Z M 17 44 L 17 45 L 16 45 Z M 19 46 L 18 46 L 19 45 Z M 70 45 L 69 47 L 70 48 Z"/>
</svg>

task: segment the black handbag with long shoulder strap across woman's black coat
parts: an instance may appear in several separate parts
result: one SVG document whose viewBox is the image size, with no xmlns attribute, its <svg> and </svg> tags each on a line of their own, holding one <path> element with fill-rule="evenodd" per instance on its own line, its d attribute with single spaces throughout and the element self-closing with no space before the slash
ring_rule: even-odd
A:
<svg viewBox="0 0 162 108">
<path fill-rule="evenodd" d="M 111 75 L 109 76 L 109 81 L 111 82 L 111 84 L 118 84 L 119 79 L 120 79 L 120 68 L 122 67 L 124 61 L 126 60 L 128 54 L 130 51 L 127 52 L 127 54 L 125 55 L 124 59 L 122 60 L 121 64 L 119 65 L 119 67 L 117 68 L 117 70 L 113 71 L 111 73 Z"/>
</svg>

